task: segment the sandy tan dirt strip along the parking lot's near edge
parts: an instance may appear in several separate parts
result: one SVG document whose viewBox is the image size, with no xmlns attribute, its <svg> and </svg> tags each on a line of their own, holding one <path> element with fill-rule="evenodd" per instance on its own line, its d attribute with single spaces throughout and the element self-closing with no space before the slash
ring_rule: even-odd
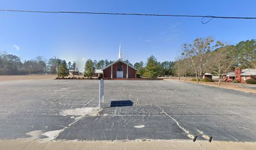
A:
<svg viewBox="0 0 256 150">
<path fill-rule="evenodd" d="M 31 141 L 0 140 L 1 149 L 256 149 L 256 143 L 192 140 L 136 140 L 136 141 Z"/>
</svg>

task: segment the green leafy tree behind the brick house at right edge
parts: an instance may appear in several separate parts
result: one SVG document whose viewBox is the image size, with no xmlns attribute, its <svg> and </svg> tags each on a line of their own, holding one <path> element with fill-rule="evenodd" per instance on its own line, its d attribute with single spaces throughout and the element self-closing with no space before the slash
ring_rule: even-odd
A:
<svg viewBox="0 0 256 150">
<path fill-rule="evenodd" d="M 256 40 L 239 42 L 233 51 L 237 56 L 237 65 L 240 68 L 256 68 Z"/>
</svg>

